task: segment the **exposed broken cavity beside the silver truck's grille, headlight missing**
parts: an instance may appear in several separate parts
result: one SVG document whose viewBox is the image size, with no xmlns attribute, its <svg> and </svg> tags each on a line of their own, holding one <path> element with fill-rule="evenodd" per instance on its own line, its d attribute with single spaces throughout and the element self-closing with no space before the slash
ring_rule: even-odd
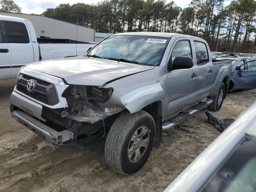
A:
<svg viewBox="0 0 256 192">
<path fill-rule="evenodd" d="M 70 85 L 62 93 L 68 107 L 52 109 L 43 106 L 42 118 L 54 130 L 73 132 L 74 140 L 69 143 L 97 133 L 103 136 L 122 111 L 122 108 L 104 106 L 112 93 L 112 88 Z"/>
</svg>

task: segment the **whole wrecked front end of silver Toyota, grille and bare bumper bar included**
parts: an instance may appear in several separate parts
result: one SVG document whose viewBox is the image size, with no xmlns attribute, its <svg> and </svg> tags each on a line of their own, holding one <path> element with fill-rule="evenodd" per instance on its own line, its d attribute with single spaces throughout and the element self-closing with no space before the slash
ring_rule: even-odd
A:
<svg viewBox="0 0 256 192">
<path fill-rule="evenodd" d="M 32 90 L 28 82 L 34 83 Z M 10 96 L 10 111 L 18 122 L 49 142 L 74 144 L 80 138 L 108 132 L 124 108 L 114 105 L 113 92 L 102 86 L 68 85 L 61 78 L 24 69 Z"/>
</svg>

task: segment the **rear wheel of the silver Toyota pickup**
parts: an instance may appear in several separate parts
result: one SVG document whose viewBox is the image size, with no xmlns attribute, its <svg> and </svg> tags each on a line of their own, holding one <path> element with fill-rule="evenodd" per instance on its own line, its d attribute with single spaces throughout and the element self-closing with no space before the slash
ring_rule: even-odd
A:
<svg viewBox="0 0 256 192">
<path fill-rule="evenodd" d="M 224 83 L 220 85 L 220 89 L 218 91 L 218 94 L 212 98 L 213 102 L 207 106 L 207 108 L 211 111 L 218 111 L 220 110 L 224 98 L 226 96 L 226 86 Z"/>
</svg>

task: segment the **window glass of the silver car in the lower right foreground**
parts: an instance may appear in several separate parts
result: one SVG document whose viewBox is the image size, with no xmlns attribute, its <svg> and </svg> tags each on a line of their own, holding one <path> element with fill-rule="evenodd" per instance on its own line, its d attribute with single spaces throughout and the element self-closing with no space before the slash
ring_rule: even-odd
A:
<svg viewBox="0 0 256 192">
<path fill-rule="evenodd" d="M 256 191 L 256 138 L 244 136 L 200 192 Z"/>
</svg>

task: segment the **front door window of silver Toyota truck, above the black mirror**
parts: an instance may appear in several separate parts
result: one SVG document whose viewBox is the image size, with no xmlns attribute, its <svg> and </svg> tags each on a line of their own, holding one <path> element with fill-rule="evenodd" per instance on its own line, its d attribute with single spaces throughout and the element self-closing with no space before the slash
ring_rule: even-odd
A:
<svg viewBox="0 0 256 192">
<path fill-rule="evenodd" d="M 192 57 L 191 47 L 188 40 L 179 41 L 172 50 L 172 61 L 178 56 Z"/>
</svg>

